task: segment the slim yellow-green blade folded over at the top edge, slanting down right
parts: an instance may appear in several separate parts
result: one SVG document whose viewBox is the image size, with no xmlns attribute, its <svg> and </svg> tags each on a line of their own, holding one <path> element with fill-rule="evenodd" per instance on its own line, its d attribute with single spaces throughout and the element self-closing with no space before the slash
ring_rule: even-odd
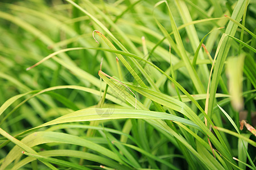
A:
<svg viewBox="0 0 256 170">
<path fill-rule="evenodd" d="M 185 63 L 185 67 L 187 68 L 188 74 L 191 77 L 193 85 L 195 86 L 195 88 L 196 88 L 196 90 L 199 94 L 203 94 L 203 93 L 205 93 L 203 84 L 201 83 L 201 80 L 199 79 L 199 76 L 197 75 L 196 70 L 193 68 L 192 63 L 190 62 L 190 60 L 187 56 L 187 53 L 185 53 L 185 48 L 183 46 L 183 42 L 181 40 L 179 30 L 177 29 L 174 17 L 172 16 L 172 12 L 170 10 L 170 7 L 168 6 L 168 3 L 166 1 L 160 1 L 160 2 L 166 3 L 166 6 L 168 8 L 170 22 L 171 22 L 171 25 L 172 25 L 172 30 L 174 31 L 174 37 L 175 37 L 175 41 L 176 41 L 176 44 L 177 44 L 177 48 L 180 52 L 181 59 L 183 59 L 183 61 Z M 157 5 L 160 5 L 160 3 L 157 3 Z"/>
</svg>

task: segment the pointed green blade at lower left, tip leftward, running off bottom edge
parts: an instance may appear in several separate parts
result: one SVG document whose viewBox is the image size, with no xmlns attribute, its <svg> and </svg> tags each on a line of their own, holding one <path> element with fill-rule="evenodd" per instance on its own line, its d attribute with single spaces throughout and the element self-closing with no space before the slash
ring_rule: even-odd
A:
<svg viewBox="0 0 256 170">
<path fill-rule="evenodd" d="M 63 167 L 67 167 L 67 168 L 90 170 L 90 168 L 86 168 L 86 167 L 83 167 L 83 166 L 75 164 L 75 163 L 67 162 L 65 160 L 50 158 L 50 157 L 42 156 L 42 155 L 30 154 L 30 153 L 24 152 L 24 151 L 22 153 L 24 155 L 36 158 L 36 159 L 40 160 L 41 162 L 49 162 L 49 163 L 57 164 L 57 165 L 60 165 L 61 167 L 63 166 Z"/>
</svg>

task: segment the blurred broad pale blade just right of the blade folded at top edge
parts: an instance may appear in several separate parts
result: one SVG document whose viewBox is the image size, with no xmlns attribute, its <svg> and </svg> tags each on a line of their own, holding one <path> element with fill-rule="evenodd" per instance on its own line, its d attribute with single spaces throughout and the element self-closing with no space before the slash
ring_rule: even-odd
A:
<svg viewBox="0 0 256 170">
<path fill-rule="evenodd" d="M 188 7 L 185 4 L 185 2 L 175 0 L 175 4 L 178 8 L 178 11 L 179 11 L 180 16 L 183 20 L 183 23 L 192 22 L 191 14 L 190 14 L 190 12 L 188 10 Z M 197 50 L 198 44 L 200 44 L 199 37 L 197 36 L 195 25 L 189 25 L 188 27 L 185 27 L 185 29 L 186 29 L 188 38 L 190 40 L 189 42 L 192 46 L 192 49 L 195 52 Z M 203 51 L 201 49 L 199 49 L 198 56 L 199 56 L 200 59 L 205 58 L 204 54 L 203 54 Z M 204 87 L 205 87 L 205 86 L 207 86 L 207 80 L 209 79 L 208 67 L 207 67 L 207 65 L 200 65 L 199 70 L 200 70 L 199 74 L 201 75 L 201 79 L 203 79 L 203 82 L 204 82 L 203 84 L 204 84 Z"/>
</svg>

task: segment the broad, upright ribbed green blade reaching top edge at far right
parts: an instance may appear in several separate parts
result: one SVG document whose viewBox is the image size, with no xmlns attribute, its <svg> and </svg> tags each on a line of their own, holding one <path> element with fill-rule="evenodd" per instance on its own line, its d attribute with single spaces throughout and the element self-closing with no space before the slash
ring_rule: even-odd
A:
<svg viewBox="0 0 256 170">
<path fill-rule="evenodd" d="M 245 0 L 238 0 L 236 7 L 234 8 L 232 18 L 235 20 L 240 20 L 243 14 L 243 9 L 247 7 Z M 233 22 L 229 22 L 228 27 L 226 28 L 225 33 L 230 36 L 234 36 L 236 33 L 237 25 Z M 215 102 L 215 94 L 218 87 L 218 81 L 220 80 L 221 72 L 228 56 L 229 48 L 231 46 L 231 41 L 226 37 L 223 42 L 221 42 L 220 51 L 218 52 L 218 57 L 216 59 L 216 65 L 213 71 L 212 85 L 210 86 L 210 97 L 209 97 L 209 106 L 208 106 L 208 115 L 211 118 L 213 114 L 213 106 Z M 220 45 L 220 44 L 219 44 Z"/>
</svg>

